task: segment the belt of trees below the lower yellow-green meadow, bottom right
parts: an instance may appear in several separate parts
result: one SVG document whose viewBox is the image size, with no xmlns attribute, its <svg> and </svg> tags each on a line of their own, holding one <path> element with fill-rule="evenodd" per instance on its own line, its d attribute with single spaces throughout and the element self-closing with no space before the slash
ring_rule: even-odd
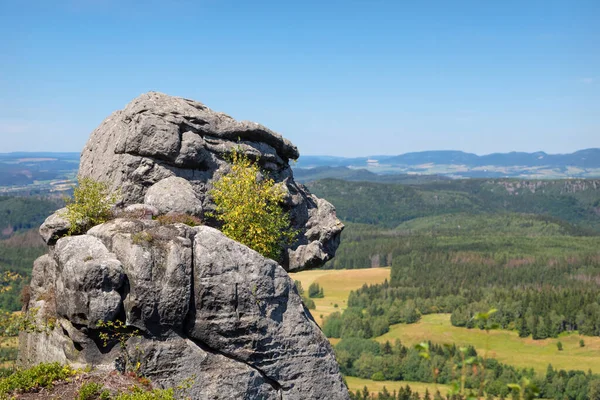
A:
<svg viewBox="0 0 600 400">
<path fill-rule="evenodd" d="M 426 349 L 424 351 L 424 348 Z M 408 380 L 437 384 L 464 382 L 464 394 L 478 397 L 511 398 L 513 392 L 509 384 L 515 384 L 526 378 L 531 387 L 536 387 L 539 397 L 564 400 L 600 398 L 600 375 L 583 371 L 555 370 L 548 366 L 545 375 L 536 374 L 533 369 L 518 369 L 503 364 L 494 358 L 486 358 L 468 346 L 437 345 L 428 343 L 425 347 L 407 347 L 396 341 L 378 343 L 373 340 L 351 338 L 343 339 L 335 346 L 335 353 L 341 371 L 347 376 L 357 376 L 375 381 Z M 403 389 L 393 394 L 380 393 L 378 399 L 417 399 L 415 392 Z M 368 390 L 353 393 L 354 399 L 366 397 Z M 421 398 L 456 398 L 424 394 Z"/>
</svg>

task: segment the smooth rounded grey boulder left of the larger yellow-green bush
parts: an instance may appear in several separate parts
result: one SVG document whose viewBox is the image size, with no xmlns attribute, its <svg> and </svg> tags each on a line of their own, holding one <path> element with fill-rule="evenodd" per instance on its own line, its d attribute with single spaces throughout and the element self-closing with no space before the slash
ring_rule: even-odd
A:
<svg viewBox="0 0 600 400">
<path fill-rule="evenodd" d="M 202 202 L 196 197 L 192 184 L 176 176 L 150 186 L 144 203 L 155 207 L 160 214 L 172 212 L 202 216 Z"/>
</svg>

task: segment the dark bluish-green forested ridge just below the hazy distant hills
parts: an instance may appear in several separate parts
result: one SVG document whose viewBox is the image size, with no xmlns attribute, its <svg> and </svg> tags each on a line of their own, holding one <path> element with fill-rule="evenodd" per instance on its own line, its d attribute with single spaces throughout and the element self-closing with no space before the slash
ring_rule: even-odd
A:
<svg viewBox="0 0 600 400">
<path fill-rule="evenodd" d="M 457 213 L 525 213 L 600 232 L 600 180 L 465 179 L 421 185 L 324 179 L 306 184 L 345 222 L 396 228 Z"/>
</svg>

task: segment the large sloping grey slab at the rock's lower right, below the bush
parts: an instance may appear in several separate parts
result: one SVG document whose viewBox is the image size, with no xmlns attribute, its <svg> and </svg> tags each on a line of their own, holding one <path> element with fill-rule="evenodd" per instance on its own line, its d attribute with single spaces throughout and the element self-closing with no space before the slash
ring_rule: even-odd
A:
<svg viewBox="0 0 600 400">
<path fill-rule="evenodd" d="M 331 346 L 285 270 L 214 228 L 195 229 L 188 335 L 262 371 L 283 398 L 347 399 Z"/>
</svg>

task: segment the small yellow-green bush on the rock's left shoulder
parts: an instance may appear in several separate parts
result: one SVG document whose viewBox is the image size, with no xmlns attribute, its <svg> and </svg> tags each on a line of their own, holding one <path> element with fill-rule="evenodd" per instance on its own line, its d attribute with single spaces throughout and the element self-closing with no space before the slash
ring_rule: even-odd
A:
<svg viewBox="0 0 600 400">
<path fill-rule="evenodd" d="M 69 234 L 85 232 L 94 225 L 108 221 L 117 195 L 110 193 L 108 185 L 91 178 L 79 180 L 73 198 L 67 199 L 67 211 L 63 217 L 69 221 Z"/>
</svg>

